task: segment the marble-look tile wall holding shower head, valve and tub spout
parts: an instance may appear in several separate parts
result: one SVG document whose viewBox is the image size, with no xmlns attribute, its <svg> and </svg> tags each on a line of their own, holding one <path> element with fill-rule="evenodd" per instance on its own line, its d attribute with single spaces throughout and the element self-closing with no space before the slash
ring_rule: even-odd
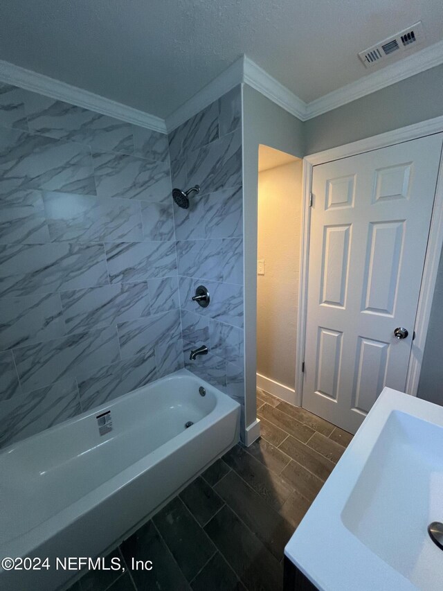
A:
<svg viewBox="0 0 443 591">
<path fill-rule="evenodd" d="M 189 209 L 173 204 L 185 367 L 244 405 L 240 87 L 177 127 L 169 146 L 172 186 L 200 186 Z M 191 299 L 198 285 L 208 308 Z M 190 361 L 202 344 L 208 355 Z"/>
</svg>

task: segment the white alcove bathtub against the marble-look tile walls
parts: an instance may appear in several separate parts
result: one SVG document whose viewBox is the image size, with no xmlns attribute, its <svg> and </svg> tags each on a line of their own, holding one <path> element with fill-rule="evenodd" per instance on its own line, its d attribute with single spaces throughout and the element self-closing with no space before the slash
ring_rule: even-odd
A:
<svg viewBox="0 0 443 591">
<path fill-rule="evenodd" d="M 64 586 L 75 572 L 56 557 L 116 545 L 237 443 L 238 425 L 239 405 L 183 369 L 3 450 L 0 559 L 48 557 L 50 568 L 0 567 L 0 588 Z"/>
</svg>

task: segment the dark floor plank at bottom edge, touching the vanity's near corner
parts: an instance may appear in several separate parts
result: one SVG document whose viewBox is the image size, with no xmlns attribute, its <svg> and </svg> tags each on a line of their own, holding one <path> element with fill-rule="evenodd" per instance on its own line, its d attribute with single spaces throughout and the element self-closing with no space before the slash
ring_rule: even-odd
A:
<svg viewBox="0 0 443 591">
<path fill-rule="evenodd" d="M 248 591 L 282 589 L 282 565 L 228 506 L 204 529 Z"/>
</svg>

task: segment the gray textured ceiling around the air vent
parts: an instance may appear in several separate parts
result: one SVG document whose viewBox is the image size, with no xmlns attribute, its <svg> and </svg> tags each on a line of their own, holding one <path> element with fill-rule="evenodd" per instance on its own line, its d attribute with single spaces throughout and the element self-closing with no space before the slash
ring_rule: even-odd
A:
<svg viewBox="0 0 443 591">
<path fill-rule="evenodd" d="M 164 118 L 243 53 L 313 100 L 420 19 L 440 41 L 442 0 L 1 0 L 0 59 Z"/>
</svg>

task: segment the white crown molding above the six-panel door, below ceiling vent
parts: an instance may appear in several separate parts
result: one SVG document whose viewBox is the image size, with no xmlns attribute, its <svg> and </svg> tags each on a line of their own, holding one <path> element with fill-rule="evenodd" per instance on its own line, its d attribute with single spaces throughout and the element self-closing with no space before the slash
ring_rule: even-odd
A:
<svg viewBox="0 0 443 591">
<path fill-rule="evenodd" d="M 355 82 L 351 82 L 337 90 L 320 96 L 307 104 L 307 116 L 303 121 L 311 119 L 357 98 L 362 98 L 372 92 L 386 88 L 395 82 L 400 82 L 410 76 L 443 64 L 443 41 L 409 55 L 408 58 L 390 64 L 377 72 L 372 72 Z"/>
</svg>

